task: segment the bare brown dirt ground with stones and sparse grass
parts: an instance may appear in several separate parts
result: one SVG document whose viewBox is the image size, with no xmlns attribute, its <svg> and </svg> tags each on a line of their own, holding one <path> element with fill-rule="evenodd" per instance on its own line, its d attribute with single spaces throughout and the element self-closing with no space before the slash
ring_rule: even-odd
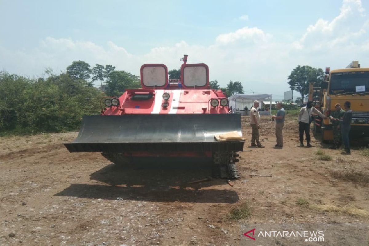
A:
<svg viewBox="0 0 369 246">
<path fill-rule="evenodd" d="M 62 143 L 77 132 L 0 138 L 0 245 L 246 245 L 243 225 L 369 222 L 367 180 L 349 180 L 368 174 L 359 150 L 300 148 L 293 118 L 283 149 L 273 147 L 270 118 L 262 118 L 266 148 L 249 146 L 248 117 L 242 127 L 252 151 L 239 153 L 233 187 L 187 184 L 211 176 L 206 163 L 117 167 L 100 153 L 69 153 Z M 235 208 L 250 216 L 230 219 Z"/>
</svg>

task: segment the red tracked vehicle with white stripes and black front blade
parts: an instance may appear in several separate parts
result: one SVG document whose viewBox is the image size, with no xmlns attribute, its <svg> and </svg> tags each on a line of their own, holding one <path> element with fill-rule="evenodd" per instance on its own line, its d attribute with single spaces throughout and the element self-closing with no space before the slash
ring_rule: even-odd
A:
<svg viewBox="0 0 369 246">
<path fill-rule="evenodd" d="M 184 55 L 180 77 L 168 81 L 164 64 L 142 65 L 142 88 L 103 98 L 101 115 L 84 116 L 77 138 L 64 145 L 69 152 L 101 152 L 113 163 L 207 157 L 213 159 L 213 176 L 239 178 L 236 152 L 244 142 L 218 142 L 214 135 L 237 131 L 241 136 L 240 114 L 230 114 L 225 94 L 210 89 L 206 64 L 187 64 Z"/>
</svg>

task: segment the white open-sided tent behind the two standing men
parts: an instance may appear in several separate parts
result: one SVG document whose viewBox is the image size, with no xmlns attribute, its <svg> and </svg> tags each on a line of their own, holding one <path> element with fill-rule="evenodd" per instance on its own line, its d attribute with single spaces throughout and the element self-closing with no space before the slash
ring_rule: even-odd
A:
<svg viewBox="0 0 369 246">
<path fill-rule="evenodd" d="M 245 107 L 250 110 L 255 100 L 259 101 L 259 106 L 263 105 L 263 101 L 270 102 L 268 115 L 272 112 L 272 94 L 234 94 L 228 97 L 232 108 L 244 110 Z"/>
</svg>

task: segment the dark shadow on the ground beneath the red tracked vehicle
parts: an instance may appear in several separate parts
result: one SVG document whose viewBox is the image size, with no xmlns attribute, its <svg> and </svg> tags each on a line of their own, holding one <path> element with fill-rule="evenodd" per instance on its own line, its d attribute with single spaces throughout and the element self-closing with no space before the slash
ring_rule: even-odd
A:
<svg viewBox="0 0 369 246">
<path fill-rule="evenodd" d="M 185 164 L 181 160 L 175 163 L 110 164 L 90 175 L 90 180 L 96 180 L 98 184 L 71 184 L 55 196 L 200 203 L 235 203 L 239 200 L 227 180 L 211 178 L 211 163 L 186 161 Z M 211 179 L 206 180 L 208 177 Z M 193 181 L 200 182 L 191 183 Z"/>
</svg>

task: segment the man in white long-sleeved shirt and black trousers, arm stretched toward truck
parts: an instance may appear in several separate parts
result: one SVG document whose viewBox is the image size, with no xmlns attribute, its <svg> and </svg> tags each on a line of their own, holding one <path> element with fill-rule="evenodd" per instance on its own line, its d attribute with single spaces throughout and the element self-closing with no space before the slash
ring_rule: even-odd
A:
<svg viewBox="0 0 369 246">
<path fill-rule="evenodd" d="M 308 101 L 305 107 L 300 109 L 299 113 L 299 132 L 300 132 L 300 147 L 304 146 L 304 132 L 308 147 L 313 147 L 310 144 L 310 119 L 311 113 L 319 115 L 321 118 L 326 118 L 319 110 L 313 107 L 313 101 Z"/>
</svg>

